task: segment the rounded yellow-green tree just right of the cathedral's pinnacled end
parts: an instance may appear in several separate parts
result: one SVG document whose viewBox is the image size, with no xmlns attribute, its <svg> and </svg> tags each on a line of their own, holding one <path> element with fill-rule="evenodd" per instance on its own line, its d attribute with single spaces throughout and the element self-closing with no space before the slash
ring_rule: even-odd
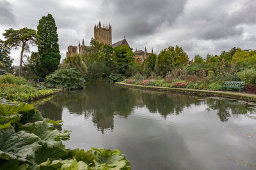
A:
<svg viewBox="0 0 256 170">
<path fill-rule="evenodd" d="M 155 69 L 160 76 L 165 76 L 168 71 L 172 71 L 174 67 L 180 67 L 188 64 L 188 55 L 179 46 L 169 46 L 164 48 L 157 55 Z"/>
</svg>

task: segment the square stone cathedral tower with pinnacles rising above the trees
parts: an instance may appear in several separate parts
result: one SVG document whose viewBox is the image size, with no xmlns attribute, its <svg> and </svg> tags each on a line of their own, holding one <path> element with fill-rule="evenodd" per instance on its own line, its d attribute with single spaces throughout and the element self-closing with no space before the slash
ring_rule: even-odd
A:
<svg viewBox="0 0 256 170">
<path fill-rule="evenodd" d="M 98 41 L 99 43 L 103 43 L 106 45 L 111 45 L 112 44 L 112 28 L 111 25 L 109 24 L 103 25 L 101 27 L 101 22 L 99 22 L 99 25 L 94 26 L 94 39 Z"/>
</svg>

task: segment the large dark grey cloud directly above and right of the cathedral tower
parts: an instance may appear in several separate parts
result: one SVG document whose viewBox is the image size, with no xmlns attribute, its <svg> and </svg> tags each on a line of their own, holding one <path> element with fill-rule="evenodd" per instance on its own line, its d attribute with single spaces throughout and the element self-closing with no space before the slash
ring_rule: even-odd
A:
<svg viewBox="0 0 256 170">
<path fill-rule="evenodd" d="M 116 27 L 116 36 L 147 36 L 163 25 L 170 26 L 184 11 L 187 0 L 103 1 L 100 18 Z"/>
</svg>

